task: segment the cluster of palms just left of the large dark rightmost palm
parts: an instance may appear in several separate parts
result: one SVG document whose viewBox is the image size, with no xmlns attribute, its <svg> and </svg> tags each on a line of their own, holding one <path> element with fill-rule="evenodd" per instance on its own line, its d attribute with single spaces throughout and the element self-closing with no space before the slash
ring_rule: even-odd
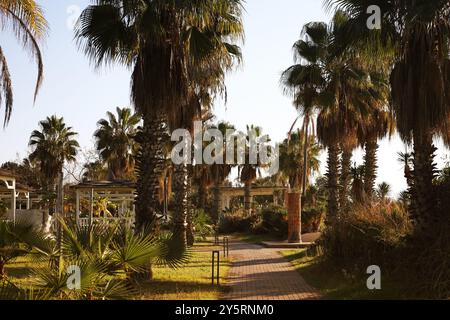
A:
<svg viewBox="0 0 450 320">
<path fill-rule="evenodd" d="M 349 210 L 351 159 L 358 146 L 366 151 L 365 198 L 373 196 L 377 138 L 386 135 L 392 123 L 386 110 L 388 84 L 384 68 L 368 65 L 356 46 L 339 51 L 337 41 L 347 21 L 348 16 L 338 11 L 330 24 L 305 25 L 304 38 L 294 45 L 298 63 L 282 75 L 286 92 L 294 96 L 294 104 L 305 119 L 303 145 L 308 145 L 308 126 L 316 118 L 317 138 L 328 148 L 330 220 Z"/>
</svg>

